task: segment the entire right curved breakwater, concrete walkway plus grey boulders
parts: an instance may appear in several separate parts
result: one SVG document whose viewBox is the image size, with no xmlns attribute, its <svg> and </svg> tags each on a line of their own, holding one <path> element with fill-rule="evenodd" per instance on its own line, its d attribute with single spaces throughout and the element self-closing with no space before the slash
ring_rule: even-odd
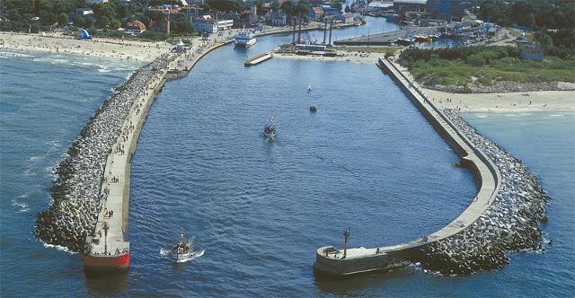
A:
<svg viewBox="0 0 575 298">
<path fill-rule="evenodd" d="M 438 110 L 397 66 L 377 66 L 397 83 L 473 174 L 477 195 L 454 221 L 438 232 L 394 246 L 316 250 L 314 273 L 342 277 L 389 270 L 410 262 L 443 274 L 469 274 L 509 263 L 506 251 L 541 249 L 538 223 L 545 221 L 548 197 L 525 165 L 466 125 L 456 111 Z M 509 171 L 510 170 L 510 171 Z"/>
</svg>

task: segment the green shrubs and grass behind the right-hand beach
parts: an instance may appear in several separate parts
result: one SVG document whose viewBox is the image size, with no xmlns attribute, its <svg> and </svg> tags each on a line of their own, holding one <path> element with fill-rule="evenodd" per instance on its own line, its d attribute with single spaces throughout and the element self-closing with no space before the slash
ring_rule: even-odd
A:
<svg viewBox="0 0 575 298">
<path fill-rule="evenodd" d="M 523 59 L 520 48 L 407 48 L 401 64 L 425 85 L 491 86 L 498 82 L 575 83 L 575 60 L 545 56 L 542 62 Z"/>
</svg>

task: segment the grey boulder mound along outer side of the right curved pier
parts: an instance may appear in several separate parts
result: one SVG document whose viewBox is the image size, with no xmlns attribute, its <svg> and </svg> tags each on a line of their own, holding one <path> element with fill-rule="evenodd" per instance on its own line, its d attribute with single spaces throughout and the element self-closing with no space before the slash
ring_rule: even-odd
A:
<svg viewBox="0 0 575 298">
<path fill-rule="evenodd" d="M 500 169 L 501 187 L 493 204 L 462 232 L 424 246 L 418 258 L 424 267 L 448 275 L 471 274 L 509 264 L 506 254 L 543 250 L 539 223 L 545 223 L 549 197 L 526 166 L 482 136 L 454 110 L 444 114 Z"/>
</svg>

